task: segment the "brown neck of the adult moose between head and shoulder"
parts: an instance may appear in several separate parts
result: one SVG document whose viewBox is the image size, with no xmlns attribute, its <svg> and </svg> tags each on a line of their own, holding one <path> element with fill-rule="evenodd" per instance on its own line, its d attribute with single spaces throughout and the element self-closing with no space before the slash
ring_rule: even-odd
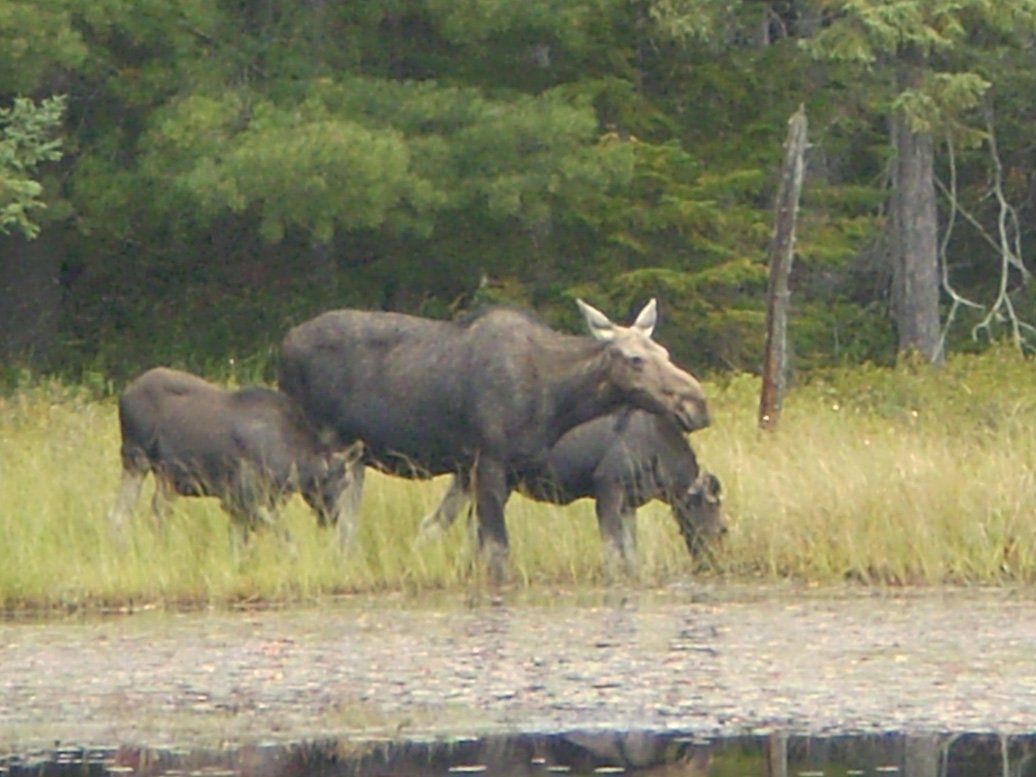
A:
<svg viewBox="0 0 1036 777">
<path fill-rule="evenodd" d="M 608 377 L 607 346 L 588 338 L 566 338 L 548 354 L 543 365 L 546 400 L 551 414 L 551 432 L 556 441 L 567 431 L 615 410 L 623 404 L 622 393 Z"/>
</svg>

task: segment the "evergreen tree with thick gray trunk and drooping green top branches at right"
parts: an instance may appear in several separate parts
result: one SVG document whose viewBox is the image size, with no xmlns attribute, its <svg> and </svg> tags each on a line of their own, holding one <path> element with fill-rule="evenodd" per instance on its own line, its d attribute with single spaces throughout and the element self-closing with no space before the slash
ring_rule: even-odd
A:
<svg viewBox="0 0 1036 777">
<path fill-rule="evenodd" d="M 1036 2 L 824 0 L 811 41 L 884 86 L 894 151 L 889 208 L 892 312 L 901 352 L 942 358 L 934 135 L 959 127 L 991 84 L 982 73 L 1005 48 L 1030 47 Z"/>
</svg>

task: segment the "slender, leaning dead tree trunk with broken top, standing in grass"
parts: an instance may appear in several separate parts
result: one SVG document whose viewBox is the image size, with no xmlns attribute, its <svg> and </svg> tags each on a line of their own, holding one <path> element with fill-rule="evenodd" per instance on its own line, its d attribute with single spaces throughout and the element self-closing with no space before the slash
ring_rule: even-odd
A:
<svg viewBox="0 0 1036 777">
<path fill-rule="evenodd" d="M 787 279 L 795 255 L 795 224 L 805 171 L 806 112 L 799 108 L 788 120 L 784 163 L 774 208 L 774 235 L 770 246 L 770 283 L 767 288 L 767 343 L 762 352 L 762 393 L 759 427 L 773 429 L 780 416 L 787 372 Z"/>
</svg>

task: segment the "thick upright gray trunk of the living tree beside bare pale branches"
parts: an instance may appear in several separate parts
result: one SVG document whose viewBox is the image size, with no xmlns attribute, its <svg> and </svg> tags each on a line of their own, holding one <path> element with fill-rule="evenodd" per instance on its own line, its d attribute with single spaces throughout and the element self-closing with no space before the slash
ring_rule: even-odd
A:
<svg viewBox="0 0 1036 777">
<path fill-rule="evenodd" d="M 900 84 L 917 78 L 903 66 Z M 939 326 L 939 222 L 933 177 L 934 144 L 930 133 L 915 132 L 906 116 L 892 117 L 895 161 L 890 208 L 892 317 L 900 354 L 918 353 L 942 361 Z"/>
</svg>

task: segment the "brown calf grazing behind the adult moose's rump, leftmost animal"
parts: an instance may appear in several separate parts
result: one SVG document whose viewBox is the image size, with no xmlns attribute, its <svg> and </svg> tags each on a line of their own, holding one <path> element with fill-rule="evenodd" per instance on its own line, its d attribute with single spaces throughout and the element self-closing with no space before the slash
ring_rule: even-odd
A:
<svg viewBox="0 0 1036 777">
<path fill-rule="evenodd" d="M 294 403 L 269 388 L 224 391 L 195 375 L 159 367 L 119 398 L 122 481 L 109 513 L 116 537 L 154 473 L 155 518 L 174 494 L 215 496 L 239 541 L 274 523 L 272 511 L 297 491 L 321 524 L 338 520 L 350 456 L 332 454 Z"/>
</svg>

